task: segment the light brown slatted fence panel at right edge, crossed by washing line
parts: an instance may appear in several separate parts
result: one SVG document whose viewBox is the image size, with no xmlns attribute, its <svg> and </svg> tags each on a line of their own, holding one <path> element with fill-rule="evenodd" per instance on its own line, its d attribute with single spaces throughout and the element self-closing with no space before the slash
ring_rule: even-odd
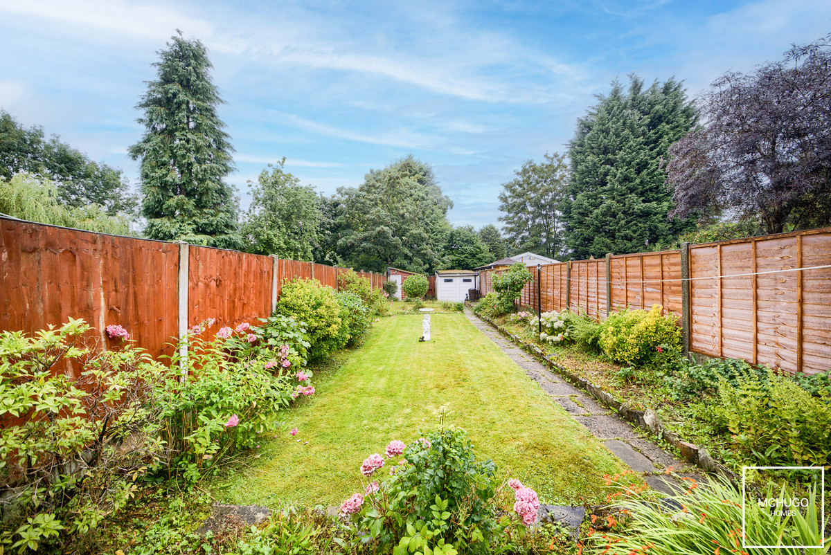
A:
<svg viewBox="0 0 831 555">
<path fill-rule="evenodd" d="M 827 371 L 829 264 L 831 228 L 691 246 L 691 350 Z"/>
</svg>

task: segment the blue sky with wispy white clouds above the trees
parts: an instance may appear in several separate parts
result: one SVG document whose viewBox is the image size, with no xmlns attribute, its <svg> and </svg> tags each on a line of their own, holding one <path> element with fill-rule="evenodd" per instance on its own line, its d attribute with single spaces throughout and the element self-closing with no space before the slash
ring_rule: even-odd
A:
<svg viewBox="0 0 831 555">
<path fill-rule="evenodd" d="M 0 108 L 135 185 L 135 104 L 177 28 L 209 49 L 243 207 L 246 181 L 283 156 L 332 194 L 412 154 L 450 222 L 478 228 L 615 78 L 675 76 L 694 97 L 826 35 L 831 2 L 0 0 Z"/>
</svg>

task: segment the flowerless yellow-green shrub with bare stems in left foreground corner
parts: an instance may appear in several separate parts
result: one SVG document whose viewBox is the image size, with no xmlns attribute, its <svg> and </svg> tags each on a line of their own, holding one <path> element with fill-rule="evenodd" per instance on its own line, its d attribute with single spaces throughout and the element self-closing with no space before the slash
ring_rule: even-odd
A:
<svg viewBox="0 0 831 555">
<path fill-rule="evenodd" d="M 155 391 L 168 369 L 129 343 L 87 349 L 89 329 L 70 319 L 34 337 L 0 334 L 0 552 L 68 551 L 164 454 Z"/>
</svg>

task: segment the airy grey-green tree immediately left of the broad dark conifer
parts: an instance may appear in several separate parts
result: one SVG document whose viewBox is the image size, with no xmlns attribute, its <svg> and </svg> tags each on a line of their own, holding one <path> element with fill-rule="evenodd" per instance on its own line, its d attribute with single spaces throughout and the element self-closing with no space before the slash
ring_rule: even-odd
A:
<svg viewBox="0 0 831 555">
<path fill-rule="evenodd" d="M 534 251 L 553 257 L 563 251 L 558 214 L 568 183 L 568 168 L 563 159 L 555 152 L 545 153 L 539 164 L 527 160 L 514 171 L 517 177 L 502 185 L 499 210 L 504 215 L 499 220 L 505 223 L 511 247 L 519 252 Z"/>
</svg>

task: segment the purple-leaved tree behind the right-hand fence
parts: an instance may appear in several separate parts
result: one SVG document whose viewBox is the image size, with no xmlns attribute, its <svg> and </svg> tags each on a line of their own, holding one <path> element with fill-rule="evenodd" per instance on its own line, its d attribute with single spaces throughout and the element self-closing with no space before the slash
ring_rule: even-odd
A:
<svg viewBox="0 0 831 555">
<path fill-rule="evenodd" d="M 673 214 L 760 223 L 763 233 L 831 223 L 831 35 L 701 98 L 704 128 L 670 149 Z"/>
</svg>

